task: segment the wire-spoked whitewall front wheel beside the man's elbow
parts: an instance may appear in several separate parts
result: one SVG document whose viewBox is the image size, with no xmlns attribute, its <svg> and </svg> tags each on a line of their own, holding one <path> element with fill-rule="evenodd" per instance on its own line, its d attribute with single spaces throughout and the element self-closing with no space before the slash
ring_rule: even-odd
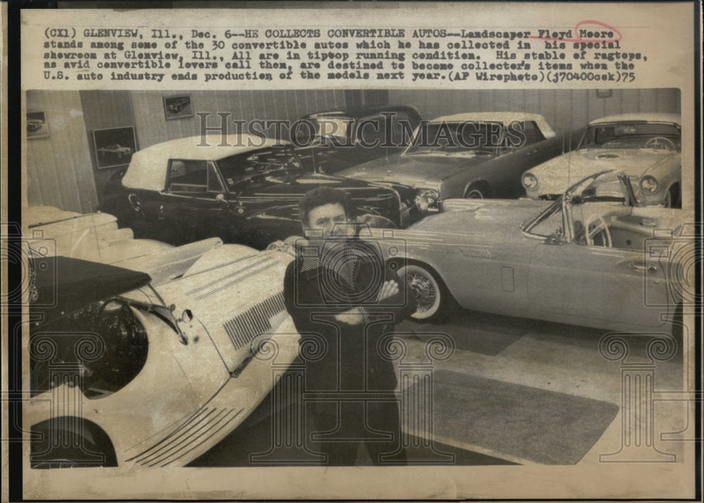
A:
<svg viewBox="0 0 704 503">
<path fill-rule="evenodd" d="M 398 269 L 398 276 L 406 280 L 416 293 L 418 309 L 410 315 L 414 321 L 439 321 L 447 313 L 452 296 L 443 281 L 425 264 L 411 263 Z"/>
</svg>

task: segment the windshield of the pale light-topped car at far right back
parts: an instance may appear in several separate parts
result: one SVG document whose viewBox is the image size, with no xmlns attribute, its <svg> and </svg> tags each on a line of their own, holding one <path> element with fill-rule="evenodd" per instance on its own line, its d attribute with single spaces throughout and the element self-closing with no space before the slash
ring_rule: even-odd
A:
<svg viewBox="0 0 704 503">
<path fill-rule="evenodd" d="M 665 122 L 618 122 L 586 128 L 579 148 L 680 149 L 680 131 Z"/>
</svg>

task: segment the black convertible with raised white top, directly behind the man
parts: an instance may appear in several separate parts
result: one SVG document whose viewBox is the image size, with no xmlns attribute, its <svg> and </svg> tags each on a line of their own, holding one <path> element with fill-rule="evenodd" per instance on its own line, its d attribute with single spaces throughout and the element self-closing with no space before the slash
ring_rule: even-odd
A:
<svg viewBox="0 0 704 503">
<path fill-rule="evenodd" d="M 134 153 L 99 210 L 136 238 L 180 245 L 216 236 L 263 250 L 301 235 L 298 200 L 318 186 L 346 191 L 353 216 L 375 227 L 408 224 L 410 205 L 398 191 L 310 172 L 286 142 L 244 134 L 192 136 Z"/>
</svg>

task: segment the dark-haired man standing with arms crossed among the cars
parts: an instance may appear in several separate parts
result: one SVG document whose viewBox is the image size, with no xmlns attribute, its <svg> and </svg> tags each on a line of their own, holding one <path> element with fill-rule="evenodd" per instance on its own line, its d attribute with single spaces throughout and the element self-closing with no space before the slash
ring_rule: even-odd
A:
<svg viewBox="0 0 704 503">
<path fill-rule="evenodd" d="M 355 464 L 360 444 L 374 464 L 404 463 L 384 341 L 415 310 L 415 297 L 376 243 L 358 237 L 344 192 L 313 189 L 298 208 L 306 239 L 287 268 L 284 299 L 306 363 L 306 444 L 333 466 Z M 317 355 L 306 356 L 308 343 Z"/>
</svg>

